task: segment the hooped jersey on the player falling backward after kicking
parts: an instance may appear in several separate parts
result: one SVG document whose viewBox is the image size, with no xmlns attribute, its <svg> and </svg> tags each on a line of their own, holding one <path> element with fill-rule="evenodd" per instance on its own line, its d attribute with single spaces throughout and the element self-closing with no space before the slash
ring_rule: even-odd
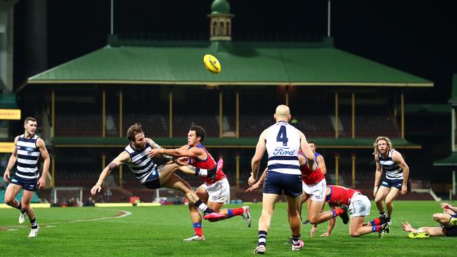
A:
<svg viewBox="0 0 457 257">
<path fill-rule="evenodd" d="M 152 148 L 148 143 L 146 143 L 146 147 L 142 150 L 134 150 L 130 144 L 125 147 L 125 151 L 130 154 L 131 158 L 131 161 L 126 162 L 126 164 L 129 166 L 131 173 L 134 173 L 141 183 L 146 181 L 150 173 L 154 173 L 155 175 L 155 173 L 158 172 L 157 169 L 155 169 L 157 165 L 154 164 L 153 160 L 146 154 L 146 152 L 151 149 Z"/>
</svg>

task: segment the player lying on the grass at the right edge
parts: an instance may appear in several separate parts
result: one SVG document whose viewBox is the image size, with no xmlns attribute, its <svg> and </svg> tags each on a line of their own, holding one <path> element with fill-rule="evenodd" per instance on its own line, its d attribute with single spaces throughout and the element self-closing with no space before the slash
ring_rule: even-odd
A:
<svg viewBox="0 0 457 257">
<path fill-rule="evenodd" d="M 433 220 L 439 223 L 439 227 L 420 227 L 416 230 L 404 221 L 401 228 L 409 232 L 409 238 L 457 237 L 457 207 L 443 202 L 441 208 L 443 213 L 433 214 Z"/>
</svg>

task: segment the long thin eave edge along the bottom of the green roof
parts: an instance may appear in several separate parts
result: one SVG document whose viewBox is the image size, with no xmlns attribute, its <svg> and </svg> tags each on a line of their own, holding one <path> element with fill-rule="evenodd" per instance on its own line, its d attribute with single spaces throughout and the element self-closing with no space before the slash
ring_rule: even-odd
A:
<svg viewBox="0 0 457 257">
<path fill-rule="evenodd" d="M 402 83 L 402 82 L 289 82 L 289 81 L 132 81 L 132 80 L 62 80 L 62 79 L 29 79 L 27 84 L 132 84 L 132 85 L 236 85 L 236 86 L 389 86 L 389 87 L 433 87 L 433 83 Z"/>
</svg>

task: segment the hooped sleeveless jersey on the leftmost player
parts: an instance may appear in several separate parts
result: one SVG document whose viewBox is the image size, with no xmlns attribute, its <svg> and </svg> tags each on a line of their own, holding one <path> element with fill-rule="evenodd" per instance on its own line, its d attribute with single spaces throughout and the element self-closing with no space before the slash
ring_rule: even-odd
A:
<svg viewBox="0 0 457 257">
<path fill-rule="evenodd" d="M 18 138 L 16 149 L 18 150 L 18 165 L 15 176 L 20 178 L 38 178 L 38 160 L 40 152 L 37 147 L 38 136 L 34 135 L 32 138 L 25 138 L 24 134 Z"/>
</svg>

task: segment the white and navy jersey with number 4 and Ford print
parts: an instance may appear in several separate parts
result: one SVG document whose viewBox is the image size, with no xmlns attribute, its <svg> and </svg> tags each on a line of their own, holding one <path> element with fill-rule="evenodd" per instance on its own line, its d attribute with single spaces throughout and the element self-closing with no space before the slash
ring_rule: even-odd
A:
<svg viewBox="0 0 457 257">
<path fill-rule="evenodd" d="M 294 126 L 278 121 L 267 129 L 268 171 L 301 175 L 299 150 L 300 134 Z"/>
</svg>

